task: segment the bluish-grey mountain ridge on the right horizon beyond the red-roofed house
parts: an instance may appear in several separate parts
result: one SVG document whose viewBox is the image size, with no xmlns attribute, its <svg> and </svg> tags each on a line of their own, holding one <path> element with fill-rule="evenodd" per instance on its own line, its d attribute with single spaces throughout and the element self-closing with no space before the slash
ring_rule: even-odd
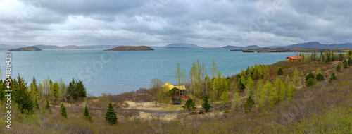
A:
<svg viewBox="0 0 352 134">
<path fill-rule="evenodd" d="M 306 42 L 299 44 L 291 44 L 286 49 L 352 49 L 351 43 L 343 44 L 320 44 L 319 42 Z"/>
</svg>

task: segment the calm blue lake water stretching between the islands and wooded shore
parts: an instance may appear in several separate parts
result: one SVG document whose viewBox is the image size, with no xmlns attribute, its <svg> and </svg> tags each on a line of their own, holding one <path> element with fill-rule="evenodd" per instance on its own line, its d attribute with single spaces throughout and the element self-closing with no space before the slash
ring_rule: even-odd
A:
<svg viewBox="0 0 352 134">
<path fill-rule="evenodd" d="M 70 49 L 43 51 L 11 51 L 12 75 L 19 73 L 30 83 L 35 77 L 42 82 L 63 78 L 68 84 L 72 78 L 82 80 L 89 94 L 120 93 L 149 87 L 153 78 L 175 84 L 177 63 L 189 74 L 191 63 L 205 63 L 208 73 L 213 60 L 222 75 L 234 75 L 241 68 L 254 64 L 284 61 L 289 53 L 243 53 L 229 49 L 161 49 L 155 51 L 103 51 L 103 49 Z M 0 51 L 0 66 L 5 70 L 5 54 Z M 293 53 L 291 55 L 294 55 Z"/>
</svg>

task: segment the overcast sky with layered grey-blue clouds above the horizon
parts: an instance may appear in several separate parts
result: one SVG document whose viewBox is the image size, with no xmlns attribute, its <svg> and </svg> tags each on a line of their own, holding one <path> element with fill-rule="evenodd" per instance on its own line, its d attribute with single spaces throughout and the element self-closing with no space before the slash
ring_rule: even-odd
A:
<svg viewBox="0 0 352 134">
<path fill-rule="evenodd" d="M 0 0 L 0 44 L 352 42 L 348 0 Z"/>
</svg>

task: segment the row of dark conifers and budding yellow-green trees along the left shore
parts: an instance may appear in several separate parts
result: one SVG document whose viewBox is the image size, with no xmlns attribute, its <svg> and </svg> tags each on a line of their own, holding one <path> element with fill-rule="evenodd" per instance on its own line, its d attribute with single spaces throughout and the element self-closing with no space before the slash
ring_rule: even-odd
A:
<svg viewBox="0 0 352 134">
<path fill-rule="evenodd" d="M 27 82 L 20 75 L 17 79 L 10 79 L 10 89 L 7 89 L 5 80 L 0 80 L 0 100 L 5 101 L 5 90 L 12 90 L 11 100 L 18 105 L 22 113 L 30 114 L 33 108 L 39 108 L 40 100 L 42 102 L 50 100 L 52 104 L 58 104 L 87 97 L 86 88 L 80 80 L 73 80 L 69 85 L 65 85 L 62 79 L 53 83 L 48 77 L 43 83 L 37 83 L 37 80 L 33 78 L 32 83 L 27 86 Z"/>
</svg>

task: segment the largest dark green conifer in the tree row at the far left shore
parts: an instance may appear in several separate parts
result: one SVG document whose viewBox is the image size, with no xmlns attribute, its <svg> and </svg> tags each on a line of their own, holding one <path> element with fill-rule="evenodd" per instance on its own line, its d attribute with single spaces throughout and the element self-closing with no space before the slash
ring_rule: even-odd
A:
<svg viewBox="0 0 352 134">
<path fill-rule="evenodd" d="M 31 114 L 33 110 L 33 101 L 31 99 L 30 92 L 28 92 L 27 83 L 25 80 L 18 75 L 18 80 L 11 82 L 11 88 L 13 89 L 13 100 L 20 107 L 21 113 L 27 111 L 27 114 Z"/>
</svg>

